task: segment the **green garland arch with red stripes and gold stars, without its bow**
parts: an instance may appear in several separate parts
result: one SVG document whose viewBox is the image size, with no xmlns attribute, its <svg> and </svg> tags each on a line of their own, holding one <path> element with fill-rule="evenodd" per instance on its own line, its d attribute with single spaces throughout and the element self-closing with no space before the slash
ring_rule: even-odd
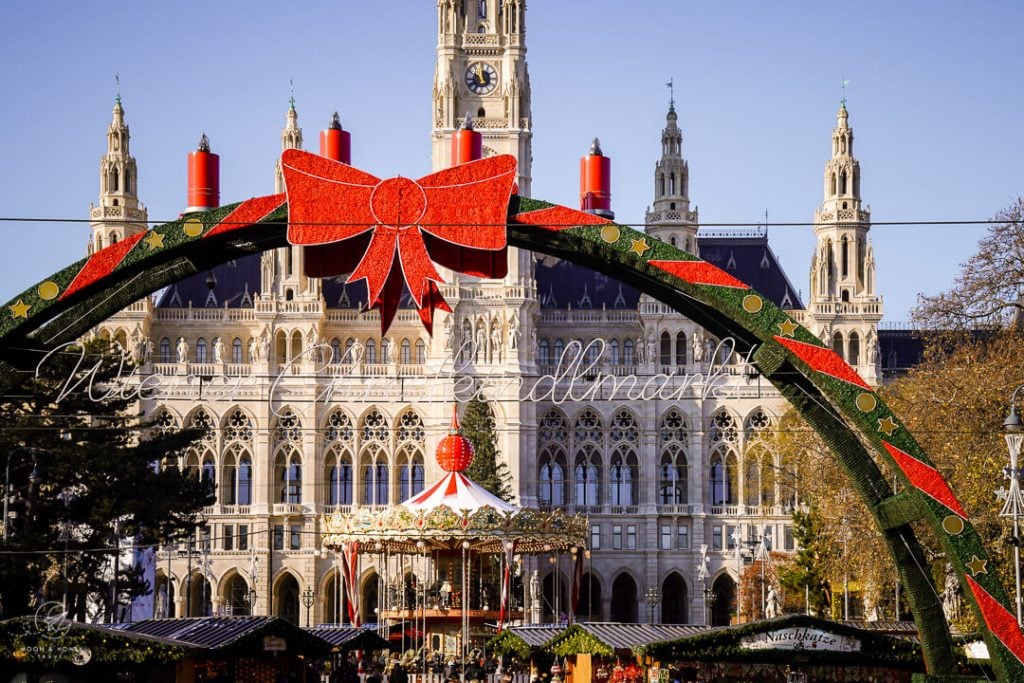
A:
<svg viewBox="0 0 1024 683">
<path fill-rule="evenodd" d="M 0 308 L 0 377 L 35 365 L 148 293 L 216 264 L 287 245 L 284 197 L 188 214 L 126 238 L 25 290 Z M 820 434 L 895 559 L 929 671 L 955 671 L 955 647 L 911 522 L 930 525 L 957 573 L 993 668 L 1024 680 L 1024 635 L 967 511 L 900 423 L 850 367 L 786 311 L 695 256 L 596 216 L 513 196 L 508 244 L 633 285 L 710 334 L 736 340 Z M 6 379 L 4 381 L 11 382 Z M 899 473 L 899 495 L 880 462 Z"/>
</svg>

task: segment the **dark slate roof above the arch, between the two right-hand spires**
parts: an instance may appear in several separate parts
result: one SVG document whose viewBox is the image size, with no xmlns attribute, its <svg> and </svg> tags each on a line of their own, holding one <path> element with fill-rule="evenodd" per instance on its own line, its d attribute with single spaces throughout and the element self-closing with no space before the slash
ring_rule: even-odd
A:
<svg viewBox="0 0 1024 683">
<path fill-rule="evenodd" d="M 767 230 L 701 230 L 697 247 L 701 259 L 743 281 L 776 306 L 804 307 L 800 292 L 768 245 Z"/>
</svg>

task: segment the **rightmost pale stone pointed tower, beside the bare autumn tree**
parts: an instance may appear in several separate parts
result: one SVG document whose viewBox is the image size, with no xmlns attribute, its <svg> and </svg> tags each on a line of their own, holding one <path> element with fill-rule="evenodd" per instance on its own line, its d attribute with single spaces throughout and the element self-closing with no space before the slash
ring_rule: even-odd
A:
<svg viewBox="0 0 1024 683">
<path fill-rule="evenodd" d="M 874 292 L 870 211 L 860 198 L 860 164 L 846 100 L 836 115 L 831 159 L 825 163 L 824 202 L 814 213 L 817 246 L 811 259 L 808 312 L 820 339 L 868 382 L 878 371 L 882 297 Z"/>
</svg>

